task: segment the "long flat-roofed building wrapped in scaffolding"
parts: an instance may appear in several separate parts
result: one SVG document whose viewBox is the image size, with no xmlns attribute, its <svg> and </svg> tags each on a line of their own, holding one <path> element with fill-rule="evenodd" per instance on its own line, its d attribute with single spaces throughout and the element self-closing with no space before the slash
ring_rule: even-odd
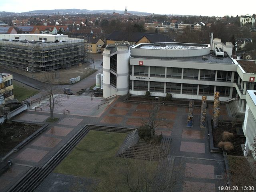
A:
<svg viewBox="0 0 256 192">
<path fill-rule="evenodd" d="M 0 34 L 1 66 L 44 72 L 84 63 L 83 39 L 63 34 Z"/>
</svg>

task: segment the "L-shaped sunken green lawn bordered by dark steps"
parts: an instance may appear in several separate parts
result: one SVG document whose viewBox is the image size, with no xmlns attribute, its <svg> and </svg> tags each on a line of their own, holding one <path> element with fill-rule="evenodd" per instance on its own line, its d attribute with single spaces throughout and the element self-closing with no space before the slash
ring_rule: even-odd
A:
<svg viewBox="0 0 256 192">
<path fill-rule="evenodd" d="M 130 191 L 126 180 L 135 186 L 138 182 L 140 187 L 145 188 L 148 180 L 154 181 L 154 170 L 158 163 L 116 157 L 116 152 L 126 136 L 127 134 L 122 133 L 90 130 L 54 172 L 94 178 L 99 181 L 96 189 L 100 192 Z M 74 184 L 74 188 L 79 185 Z"/>
</svg>

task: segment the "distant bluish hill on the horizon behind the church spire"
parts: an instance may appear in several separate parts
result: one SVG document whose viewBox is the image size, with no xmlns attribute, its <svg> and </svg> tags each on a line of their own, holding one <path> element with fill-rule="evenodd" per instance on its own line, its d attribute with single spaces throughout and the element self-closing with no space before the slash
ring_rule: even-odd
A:
<svg viewBox="0 0 256 192">
<path fill-rule="evenodd" d="M 124 10 L 115 10 L 116 13 L 124 13 Z M 128 11 L 130 14 L 136 15 L 150 15 L 150 13 L 146 12 L 138 12 L 138 11 Z M 53 14 L 53 13 L 60 13 L 60 14 L 97 14 L 97 13 L 106 13 L 112 14 L 113 10 L 87 10 L 87 9 L 54 9 L 54 10 L 35 10 L 30 12 L 24 13 L 38 13 L 38 14 Z"/>
</svg>

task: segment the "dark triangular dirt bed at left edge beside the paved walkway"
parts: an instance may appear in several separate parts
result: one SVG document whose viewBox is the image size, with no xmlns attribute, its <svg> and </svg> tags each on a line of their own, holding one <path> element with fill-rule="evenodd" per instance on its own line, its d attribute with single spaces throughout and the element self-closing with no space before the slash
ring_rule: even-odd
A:
<svg viewBox="0 0 256 192">
<path fill-rule="evenodd" d="M 25 140 L 41 126 L 27 123 L 4 123 L 0 126 L 0 157 Z"/>
</svg>

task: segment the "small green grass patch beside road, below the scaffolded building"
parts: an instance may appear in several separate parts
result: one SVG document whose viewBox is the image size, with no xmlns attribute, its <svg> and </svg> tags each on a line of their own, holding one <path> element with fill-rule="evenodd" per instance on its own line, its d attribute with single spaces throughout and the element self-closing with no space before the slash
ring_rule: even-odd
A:
<svg viewBox="0 0 256 192">
<path fill-rule="evenodd" d="M 38 90 L 32 90 L 29 88 L 22 87 L 19 83 L 16 83 L 13 81 L 13 94 L 16 99 L 19 101 L 26 100 L 27 98 L 30 98 L 31 96 L 37 94 Z"/>
</svg>

